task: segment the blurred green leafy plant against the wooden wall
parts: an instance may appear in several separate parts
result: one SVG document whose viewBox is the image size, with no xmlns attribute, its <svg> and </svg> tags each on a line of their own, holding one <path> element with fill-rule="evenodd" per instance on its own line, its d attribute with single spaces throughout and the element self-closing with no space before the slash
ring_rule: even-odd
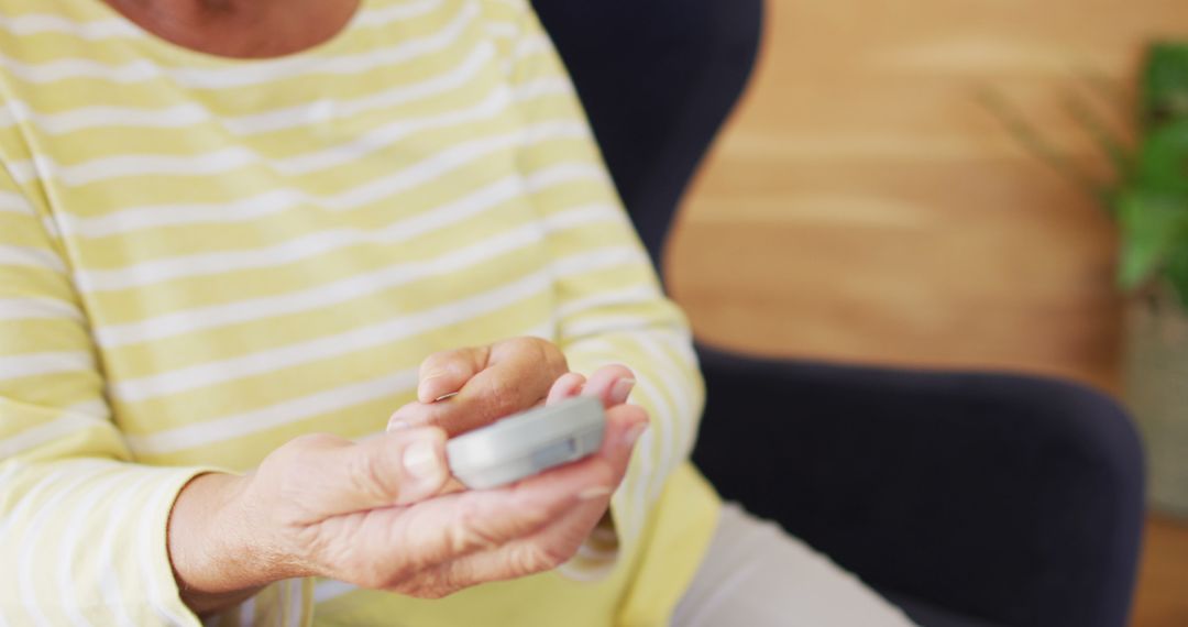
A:
<svg viewBox="0 0 1188 627">
<path fill-rule="evenodd" d="M 1104 81 L 1082 77 L 1093 91 L 1113 97 Z M 1188 309 L 1188 43 L 1150 46 L 1142 75 L 1138 138 L 1111 133 L 1080 91 L 1069 115 L 1110 158 L 1111 176 L 1100 179 L 1051 145 L 996 93 L 986 106 L 1034 156 L 1085 190 L 1113 217 L 1121 236 L 1118 283 L 1127 291 L 1167 284 Z"/>
</svg>

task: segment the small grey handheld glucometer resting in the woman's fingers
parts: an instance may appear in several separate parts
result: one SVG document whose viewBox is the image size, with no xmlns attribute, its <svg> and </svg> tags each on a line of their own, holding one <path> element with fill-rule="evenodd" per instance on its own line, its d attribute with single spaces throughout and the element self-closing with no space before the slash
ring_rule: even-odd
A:
<svg viewBox="0 0 1188 627">
<path fill-rule="evenodd" d="M 466 487 L 495 488 L 598 451 L 605 430 L 602 401 L 575 397 L 457 436 L 446 456 Z"/>
</svg>

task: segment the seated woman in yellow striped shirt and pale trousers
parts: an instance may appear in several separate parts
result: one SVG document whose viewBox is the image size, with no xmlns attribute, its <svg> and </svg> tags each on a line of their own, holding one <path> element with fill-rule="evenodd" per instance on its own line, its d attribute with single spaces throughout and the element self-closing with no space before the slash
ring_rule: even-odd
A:
<svg viewBox="0 0 1188 627">
<path fill-rule="evenodd" d="M 688 330 L 523 0 L 0 13 L 0 622 L 905 622 L 688 464 Z M 449 481 L 577 393 L 598 455 Z"/>
</svg>

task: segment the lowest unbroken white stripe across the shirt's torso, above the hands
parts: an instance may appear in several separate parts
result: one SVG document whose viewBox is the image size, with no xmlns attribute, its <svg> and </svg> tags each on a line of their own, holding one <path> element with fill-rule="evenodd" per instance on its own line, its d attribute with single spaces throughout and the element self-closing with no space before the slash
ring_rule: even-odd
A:
<svg viewBox="0 0 1188 627">
<path fill-rule="evenodd" d="M 235 379 L 274 372 L 336 357 L 356 350 L 418 335 L 431 329 L 455 324 L 536 296 L 549 286 L 544 273 L 533 273 L 511 284 L 469 298 L 447 303 L 417 314 L 402 316 L 379 324 L 317 340 L 260 350 L 240 357 L 202 363 L 138 379 L 113 384 L 112 392 L 124 403 L 137 403 L 156 397 L 213 386 Z"/>
</svg>

